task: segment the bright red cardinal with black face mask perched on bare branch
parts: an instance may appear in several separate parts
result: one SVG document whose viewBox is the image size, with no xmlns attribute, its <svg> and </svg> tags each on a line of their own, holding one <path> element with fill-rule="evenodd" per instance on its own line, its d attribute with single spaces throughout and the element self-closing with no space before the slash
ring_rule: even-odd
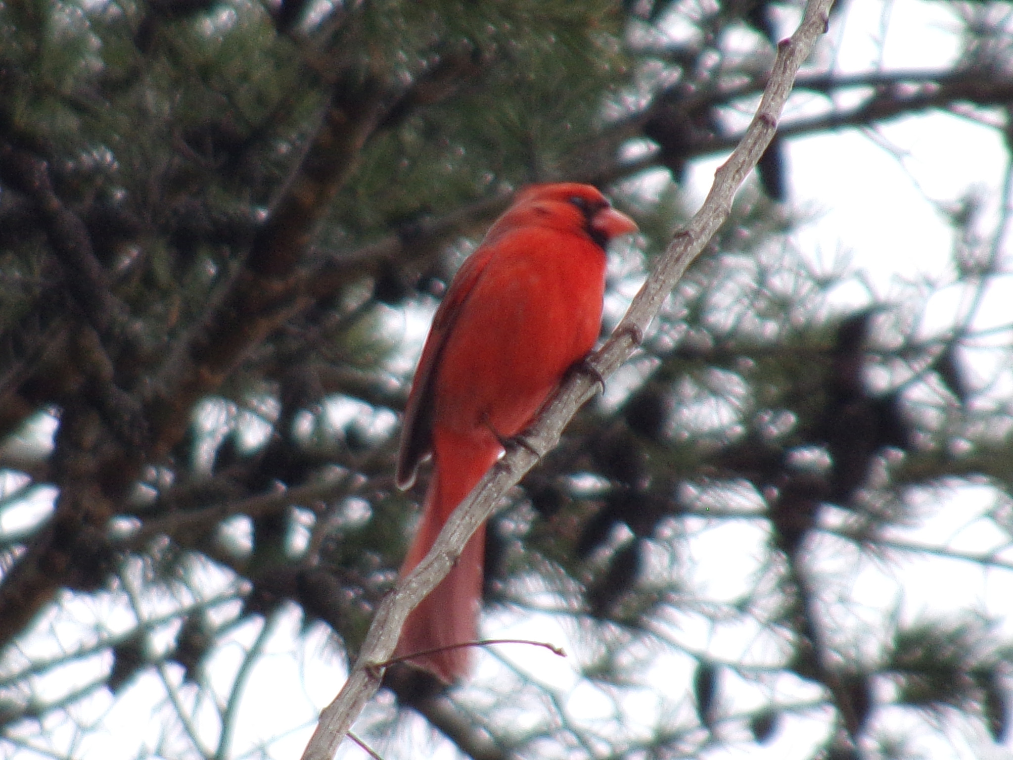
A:
<svg viewBox="0 0 1013 760">
<path fill-rule="evenodd" d="M 397 484 L 433 455 L 421 523 L 401 575 L 428 552 L 454 509 L 534 420 L 566 371 L 592 350 L 602 322 L 605 245 L 637 229 L 589 184 L 536 184 L 489 229 L 437 309 L 408 396 Z M 408 616 L 395 653 L 475 640 L 484 528 Z M 411 659 L 446 683 L 470 650 Z"/>
</svg>

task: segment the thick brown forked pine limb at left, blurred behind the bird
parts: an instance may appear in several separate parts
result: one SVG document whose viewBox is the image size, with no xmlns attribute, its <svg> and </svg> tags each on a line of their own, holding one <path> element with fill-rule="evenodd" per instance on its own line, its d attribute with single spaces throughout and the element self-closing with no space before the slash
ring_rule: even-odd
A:
<svg viewBox="0 0 1013 760">
<path fill-rule="evenodd" d="M 62 465 L 57 468 L 56 514 L 0 583 L 0 648 L 60 587 L 90 589 L 100 583 L 109 548 L 105 522 L 123 512 L 125 496 L 141 465 L 163 458 L 185 435 L 193 404 L 219 387 L 253 347 L 313 303 L 301 288 L 298 272 L 330 200 L 392 109 L 400 107 L 397 118 L 402 119 L 412 108 L 450 94 L 454 76 L 473 72 L 471 58 L 465 61 L 456 52 L 446 67 L 440 67 L 438 60 L 406 84 L 385 82 L 358 69 L 345 72 L 334 86 L 320 129 L 257 230 L 238 275 L 189 339 L 180 343 L 180 351 L 163 364 L 151 383 L 146 407 L 114 382 L 115 357 L 106 350 L 122 348 L 118 341 L 129 337 L 124 328 L 129 312 L 109 290 L 86 226 L 55 195 L 43 159 L 0 142 L 0 179 L 24 192 L 38 207 L 65 270 L 67 288 L 90 325 L 79 331 L 76 346 L 87 371 L 88 394 L 60 399 L 65 409 L 55 454 Z M 119 441 L 108 440 L 96 426 L 94 409 Z M 65 435 L 71 420 L 89 435 L 77 436 L 80 440 Z"/>
</svg>

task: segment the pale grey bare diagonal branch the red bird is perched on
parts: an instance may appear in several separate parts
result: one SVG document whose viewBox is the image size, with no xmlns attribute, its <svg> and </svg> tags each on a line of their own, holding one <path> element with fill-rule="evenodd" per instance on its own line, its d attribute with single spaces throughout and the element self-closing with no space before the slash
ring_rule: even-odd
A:
<svg viewBox="0 0 1013 760">
<path fill-rule="evenodd" d="M 608 377 L 629 358 L 647 325 L 690 262 L 700 254 L 731 211 L 735 192 L 753 170 L 774 136 L 778 115 L 791 92 L 795 74 L 816 39 L 826 31 L 832 0 L 809 0 L 802 21 L 778 46 L 773 73 L 749 131 L 729 159 L 717 170 L 714 185 L 700 211 L 680 230 L 644 283 L 613 336 L 592 356 L 592 366 Z M 576 409 L 590 398 L 596 380 L 575 373 L 559 389 L 545 413 L 529 432 L 534 447 L 549 451 Z M 330 760 L 366 703 L 380 686 L 378 664 L 394 651 L 408 613 L 450 571 L 471 534 L 492 514 L 499 499 L 536 464 L 539 457 L 518 447 L 486 474 L 451 516 L 433 550 L 404 578 L 377 610 L 359 659 L 340 693 L 320 716 L 304 760 Z"/>
</svg>

